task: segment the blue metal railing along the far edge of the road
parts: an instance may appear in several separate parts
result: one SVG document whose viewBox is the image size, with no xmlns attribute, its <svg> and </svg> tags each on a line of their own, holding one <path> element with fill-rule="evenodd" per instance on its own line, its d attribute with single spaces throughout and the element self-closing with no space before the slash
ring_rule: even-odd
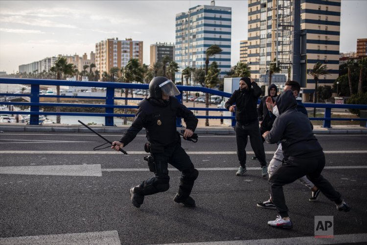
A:
<svg viewBox="0 0 367 245">
<path fill-rule="evenodd" d="M 125 98 L 125 97 L 115 97 L 115 89 L 149 89 L 148 84 L 136 84 L 136 83 L 116 83 L 116 82 L 82 82 L 82 81 L 65 81 L 65 80 L 46 80 L 46 79 L 25 79 L 25 78 L 0 78 L 0 84 L 29 84 L 31 86 L 30 94 L 9 94 L 0 93 L 1 96 L 22 96 L 29 97 L 30 102 L 7 102 L 0 101 L 2 105 L 24 105 L 30 106 L 30 111 L 2 111 L 2 113 L 7 114 L 29 114 L 30 121 L 29 124 L 38 125 L 39 115 L 61 115 L 61 116 L 103 116 L 105 117 L 105 125 L 113 126 L 114 117 L 134 117 L 134 114 L 117 114 L 114 113 L 114 108 L 128 108 L 137 109 L 138 106 L 134 105 L 115 105 L 115 100 L 140 100 L 142 98 Z M 57 95 L 40 95 L 40 85 L 51 85 L 51 86 L 81 86 L 81 87 L 97 87 L 106 88 L 106 97 L 89 97 L 89 96 L 57 96 Z M 218 95 L 222 97 L 229 98 L 231 94 L 208 89 L 204 87 L 194 87 L 194 86 L 177 86 L 177 88 L 182 91 L 190 92 L 202 92 L 209 93 L 212 95 Z M 105 104 L 80 104 L 80 103 L 51 103 L 51 102 L 40 102 L 40 97 L 47 98 L 88 98 L 88 99 L 105 99 Z M 177 98 L 182 101 L 182 94 L 177 96 Z M 332 108 L 342 108 L 342 109 L 367 109 L 367 105 L 352 105 L 352 104 L 314 104 L 314 103 L 304 103 L 305 107 L 310 108 L 325 108 L 323 118 L 310 118 L 310 120 L 323 121 L 323 127 L 331 127 L 331 121 L 367 121 L 366 118 L 331 118 Z M 95 108 L 105 108 L 105 113 L 81 113 L 81 112 L 40 112 L 40 106 L 70 106 L 70 107 L 95 107 Z M 196 111 L 227 111 L 225 108 L 203 108 L 203 107 L 188 107 L 190 110 Z M 231 119 L 232 126 L 235 124 L 235 117 L 232 116 L 197 116 L 198 119 Z M 181 120 L 177 120 L 177 125 L 182 126 Z M 367 126 L 367 125 L 366 125 Z"/>
</svg>

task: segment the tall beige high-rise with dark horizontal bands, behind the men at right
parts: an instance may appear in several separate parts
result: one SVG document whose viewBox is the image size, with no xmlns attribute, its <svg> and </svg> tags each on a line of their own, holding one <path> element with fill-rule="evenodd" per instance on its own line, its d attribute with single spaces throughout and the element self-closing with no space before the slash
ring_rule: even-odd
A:
<svg viewBox="0 0 367 245">
<path fill-rule="evenodd" d="M 319 83 L 332 84 L 338 78 L 341 0 L 249 0 L 249 63 L 258 81 L 267 83 L 269 65 L 277 60 L 284 79 L 293 62 L 293 11 L 300 4 L 300 84 L 308 101 L 315 89 L 314 79 L 305 73 L 320 61 L 330 75 Z M 266 78 L 266 79 L 261 79 Z M 281 82 L 282 83 L 282 82 Z"/>
</svg>

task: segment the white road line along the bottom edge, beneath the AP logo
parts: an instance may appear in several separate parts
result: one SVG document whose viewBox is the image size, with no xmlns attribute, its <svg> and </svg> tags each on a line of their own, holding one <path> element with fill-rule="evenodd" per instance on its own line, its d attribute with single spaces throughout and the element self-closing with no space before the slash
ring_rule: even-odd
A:
<svg viewBox="0 0 367 245">
<path fill-rule="evenodd" d="M 321 244 L 348 244 L 367 242 L 367 233 L 335 235 L 334 238 L 315 238 L 315 237 L 290 237 L 259 239 L 245 241 L 221 241 L 203 243 L 182 243 L 165 245 L 321 245 Z"/>
</svg>

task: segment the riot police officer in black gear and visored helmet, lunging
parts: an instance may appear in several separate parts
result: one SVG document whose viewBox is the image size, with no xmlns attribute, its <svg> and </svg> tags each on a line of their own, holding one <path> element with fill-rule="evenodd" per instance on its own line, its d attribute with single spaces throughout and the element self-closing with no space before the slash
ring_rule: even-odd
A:
<svg viewBox="0 0 367 245">
<path fill-rule="evenodd" d="M 165 192 L 169 189 L 168 163 L 182 172 L 180 186 L 174 201 L 188 207 L 195 207 L 190 196 L 199 172 L 194 168 L 190 157 L 181 147 L 181 137 L 177 132 L 176 118 L 186 123 L 184 139 L 191 137 L 198 124 L 197 118 L 174 96 L 180 92 L 175 84 L 166 77 L 158 76 L 149 83 L 149 97 L 140 101 L 134 122 L 112 148 L 119 150 L 127 146 L 144 127 L 148 143 L 145 150 L 150 152 L 148 165 L 154 177 L 130 189 L 131 201 L 137 208 L 144 196 Z"/>
</svg>

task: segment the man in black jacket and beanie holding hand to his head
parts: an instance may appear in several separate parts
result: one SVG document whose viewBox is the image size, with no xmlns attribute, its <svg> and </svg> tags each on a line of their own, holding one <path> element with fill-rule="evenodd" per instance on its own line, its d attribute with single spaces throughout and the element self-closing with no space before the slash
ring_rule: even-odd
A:
<svg viewBox="0 0 367 245">
<path fill-rule="evenodd" d="M 268 175 L 266 167 L 265 150 L 261 140 L 259 121 L 257 120 L 257 100 L 261 95 L 261 88 L 250 77 L 241 77 L 240 88 L 235 90 L 224 107 L 230 112 L 236 112 L 237 156 L 240 167 L 236 175 L 246 172 L 246 145 L 250 136 L 251 147 L 261 165 L 261 175 Z M 233 105 L 236 103 L 235 105 Z"/>
</svg>

